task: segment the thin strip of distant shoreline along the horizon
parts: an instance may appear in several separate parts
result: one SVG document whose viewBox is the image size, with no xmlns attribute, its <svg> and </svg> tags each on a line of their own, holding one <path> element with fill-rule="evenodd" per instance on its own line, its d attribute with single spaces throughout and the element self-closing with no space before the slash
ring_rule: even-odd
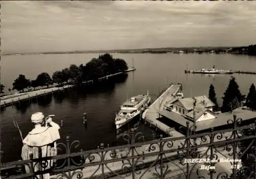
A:
<svg viewBox="0 0 256 179">
<path fill-rule="evenodd" d="M 1 56 L 13 55 L 53 55 L 53 54 L 104 54 L 104 53 L 119 53 L 119 54 L 248 54 L 248 46 L 239 47 L 166 47 L 166 48 L 142 48 L 142 49 L 117 49 L 117 50 L 74 50 L 67 52 L 36 52 L 36 53 L 9 53 L 1 54 Z M 256 54 L 252 54 L 256 55 Z"/>
</svg>

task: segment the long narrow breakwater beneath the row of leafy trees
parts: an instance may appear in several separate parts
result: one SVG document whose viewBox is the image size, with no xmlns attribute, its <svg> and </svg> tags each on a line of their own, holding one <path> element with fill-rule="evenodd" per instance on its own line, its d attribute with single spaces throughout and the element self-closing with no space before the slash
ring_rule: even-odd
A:
<svg viewBox="0 0 256 179">
<path fill-rule="evenodd" d="M 129 71 L 134 71 L 134 70 L 136 70 L 136 68 L 133 67 L 133 68 L 127 69 L 127 70 L 122 71 L 122 72 L 106 75 L 106 76 L 103 76 L 103 77 L 99 78 L 98 81 L 101 82 L 103 80 L 108 80 L 112 76 L 116 76 L 116 75 L 119 75 L 119 74 L 127 73 Z M 87 82 L 83 82 L 83 84 L 93 84 L 93 81 L 90 80 L 90 81 L 87 81 Z M 62 86 L 62 87 L 51 87 L 51 88 L 39 89 L 39 90 L 29 91 L 29 92 L 24 92 L 24 93 L 6 95 L 6 96 L 3 96 L 3 97 L 0 98 L 1 99 L 1 108 L 6 108 L 8 106 L 13 106 L 17 103 L 20 103 L 21 101 L 24 101 L 24 100 L 31 100 L 32 98 L 37 98 L 39 96 L 44 96 L 44 95 L 47 95 L 47 94 L 50 94 L 50 93 L 53 93 L 53 92 L 56 92 L 56 91 L 62 91 L 64 89 L 71 88 L 73 86 L 74 85 L 65 85 L 65 86 Z"/>
</svg>

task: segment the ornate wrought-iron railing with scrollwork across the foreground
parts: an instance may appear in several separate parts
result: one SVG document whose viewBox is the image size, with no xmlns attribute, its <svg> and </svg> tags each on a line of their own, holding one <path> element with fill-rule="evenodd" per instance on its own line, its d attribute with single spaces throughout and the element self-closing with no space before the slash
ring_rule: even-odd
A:
<svg viewBox="0 0 256 179">
<path fill-rule="evenodd" d="M 256 122 L 241 126 L 234 115 L 230 129 L 194 134 L 186 126 L 184 137 L 143 141 L 143 134 L 125 134 L 127 145 L 71 152 L 79 141 L 59 143 L 65 154 L 15 161 L 1 166 L 1 178 L 256 178 Z M 60 150 L 59 150 L 60 151 Z M 193 160 L 194 159 L 194 160 Z M 241 161 L 240 161 L 241 160 Z M 54 161 L 54 164 L 50 164 Z M 34 166 L 39 164 L 39 170 Z M 24 166 L 30 168 L 24 172 Z M 50 168 L 49 168 L 50 166 Z M 49 169 L 46 169 L 46 168 Z M 15 172 L 11 171 L 15 170 Z"/>
</svg>

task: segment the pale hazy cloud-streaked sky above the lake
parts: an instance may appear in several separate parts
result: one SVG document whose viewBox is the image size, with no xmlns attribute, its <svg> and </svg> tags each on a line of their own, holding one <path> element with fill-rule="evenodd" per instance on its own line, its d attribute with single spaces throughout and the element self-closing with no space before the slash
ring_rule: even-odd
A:
<svg viewBox="0 0 256 179">
<path fill-rule="evenodd" d="M 1 1 L 1 53 L 256 43 L 256 1 Z"/>
</svg>

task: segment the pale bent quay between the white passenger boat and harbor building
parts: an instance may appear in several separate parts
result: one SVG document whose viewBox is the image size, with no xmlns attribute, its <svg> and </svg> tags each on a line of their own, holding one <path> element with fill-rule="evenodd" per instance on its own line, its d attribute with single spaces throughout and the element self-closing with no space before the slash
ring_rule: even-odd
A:
<svg viewBox="0 0 256 179">
<path fill-rule="evenodd" d="M 164 109 L 164 105 L 168 103 L 180 90 L 182 89 L 182 83 L 171 83 L 170 86 L 154 101 L 154 103 L 145 110 L 142 114 L 142 118 L 145 122 L 157 129 L 163 131 L 169 136 L 181 137 L 181 133 L 175 131 L 172 127 L 157 120 L 160 117 L 159 112 Z"/>
</svg>

